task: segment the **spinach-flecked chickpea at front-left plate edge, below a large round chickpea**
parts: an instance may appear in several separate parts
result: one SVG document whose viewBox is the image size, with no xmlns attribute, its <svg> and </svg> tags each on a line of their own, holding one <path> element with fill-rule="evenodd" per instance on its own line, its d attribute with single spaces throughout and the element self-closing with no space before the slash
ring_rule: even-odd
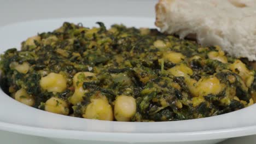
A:
<svg viewBox="0 0 256 144">
<path fill-rule="evenodd" d="M 66 101 L 56 97 L 51 97 L 45 102 L 44 110 L 61 115 L 68 115 L 69 113 Z"/>
</svg>

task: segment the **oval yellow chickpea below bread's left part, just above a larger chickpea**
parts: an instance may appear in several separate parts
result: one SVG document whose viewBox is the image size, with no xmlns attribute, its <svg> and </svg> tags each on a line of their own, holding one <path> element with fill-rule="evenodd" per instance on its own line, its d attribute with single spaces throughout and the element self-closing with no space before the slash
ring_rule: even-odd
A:
<svg viewBox="0 0 256 144">
<path fill-rule="evenodd" d="M 185 58 L 185 56 L 182 55 L 182 53 L 180 52 L 170 51 L 170 52 L 164 53 L 163 58 L 167 59 L 172 63 L 179 63 Z"/>
</svg>

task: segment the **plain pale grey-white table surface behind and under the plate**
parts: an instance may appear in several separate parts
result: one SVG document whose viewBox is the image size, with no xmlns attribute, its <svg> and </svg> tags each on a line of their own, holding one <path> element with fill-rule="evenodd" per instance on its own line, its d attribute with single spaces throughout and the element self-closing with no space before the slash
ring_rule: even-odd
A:
<svg viewBox="0 0 256 144">
<path fill-rule="evenodd" d="M 157 0 L 0 0 L 0 27 L 20 21 L 51 19 L 56 17 L 102 15 L 155 17 L 154 5 L 156 2 Z M 0 143 L 11 144 L 56 144 L 56 142 L 44 137 L 15 134 L 7 131 L 0 131 L 0 140 Z M 222 144 L 238 143 L 256 143 L 256 135 L 237 137 L 222 142 Z"/>
</svg>

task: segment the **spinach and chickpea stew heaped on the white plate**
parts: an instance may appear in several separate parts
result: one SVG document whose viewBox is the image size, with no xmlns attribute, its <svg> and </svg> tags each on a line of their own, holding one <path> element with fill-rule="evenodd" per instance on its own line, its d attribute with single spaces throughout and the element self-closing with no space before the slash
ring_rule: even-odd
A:
<svg viewBox="0 0 256 144">
<path fill-rule="evenodd" d="M 156 29 L 65 22 L 1 55 L 1 86 L 41 110 L 107 121 L 177 121 L 252 105 L 255 71 L 218 46 Z"/>
</svg>

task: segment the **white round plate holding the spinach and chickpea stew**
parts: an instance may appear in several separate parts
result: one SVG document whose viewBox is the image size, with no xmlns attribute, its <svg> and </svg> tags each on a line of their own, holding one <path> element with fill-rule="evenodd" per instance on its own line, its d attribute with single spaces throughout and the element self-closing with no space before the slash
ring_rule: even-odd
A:
<svg viewBox="0 0 256 144">
<path fill-rule="evenodd" d="M 20 47 L 21 41 L 38 32 L 53 31 L 63 22 L 82 22 L 86 27 L 102 21 L 126 26 L 151 27 L 154 19 L 135 17 L 84 17 L 15 23 L 0 28 L 0 53 Z M 225 115 L 175 122 L 109 122 L 57 115 L 34 109 L 0 91 L 0 130 L 51 137 L 66 142 L 218 142 L 237 136 L 256 134 L 256 105 Z"/>
</svg>

